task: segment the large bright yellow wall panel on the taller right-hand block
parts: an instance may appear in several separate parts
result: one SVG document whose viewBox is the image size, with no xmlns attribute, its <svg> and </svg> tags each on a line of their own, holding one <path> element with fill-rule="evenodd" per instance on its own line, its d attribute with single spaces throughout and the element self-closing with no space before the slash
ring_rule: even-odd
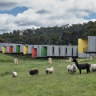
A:
<svg viewBox="0 0 96 96">
<path fill-rule="evenodd" d="M 78 39 L 78 53 L 88 51 L 88 39 Z"/>
</svg>

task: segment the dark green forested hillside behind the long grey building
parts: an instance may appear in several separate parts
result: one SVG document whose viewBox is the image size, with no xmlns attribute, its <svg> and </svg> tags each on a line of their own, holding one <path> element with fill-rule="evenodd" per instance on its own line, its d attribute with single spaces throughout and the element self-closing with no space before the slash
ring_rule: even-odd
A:
<svg viewBox="0 0 96 96">
<path fill-rule="evenodd" d="M 1 43 L 32 45 L 77 45 L 78 38 L 96 36 L 96 21 L 71 26 L 41 27 L 37 29 L 13 30 L 0 34 Z"/>
</svg>

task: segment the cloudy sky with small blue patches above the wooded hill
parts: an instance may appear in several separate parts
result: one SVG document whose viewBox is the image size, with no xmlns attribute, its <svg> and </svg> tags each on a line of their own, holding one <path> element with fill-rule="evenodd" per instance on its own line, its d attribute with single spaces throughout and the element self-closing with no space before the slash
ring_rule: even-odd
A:
<svg viewBox="0 0 96 96">
<path fill-rule="evenodd" d="M 96 21 L 96 0 L 0 0 L 0 34 Z"/>
</svg>

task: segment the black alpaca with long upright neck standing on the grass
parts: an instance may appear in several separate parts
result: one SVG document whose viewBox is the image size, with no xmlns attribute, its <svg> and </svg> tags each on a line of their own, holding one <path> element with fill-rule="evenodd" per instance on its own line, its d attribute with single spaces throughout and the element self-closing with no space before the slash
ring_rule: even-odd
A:
<svg viewBox="0 0 96 96">
<path fill-rule="evenodd" d="M 88 64 L 88 63 L 78 64 L 78 62 L 77 62 L 77 60 L 75 58 L 73 59 L 73 62 L 75 62 L 77 68 L 79 69 L 80 74 L 81 74 L 82 69 L 83 70 L 86 69 L 87 73 L 90 72 L 90 64 Z"/>
</svg>

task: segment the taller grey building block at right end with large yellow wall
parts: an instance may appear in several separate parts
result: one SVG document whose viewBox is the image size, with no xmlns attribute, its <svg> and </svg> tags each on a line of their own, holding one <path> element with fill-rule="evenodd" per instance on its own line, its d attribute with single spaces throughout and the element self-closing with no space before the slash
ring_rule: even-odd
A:
<svg viewBox="0 0 96 96">
<path fill-rule="evenodd" d="M 85 39 L 78 39 L 78 57 L 96 57 L 96 36 L 88 36 Z"/>
</svg>

